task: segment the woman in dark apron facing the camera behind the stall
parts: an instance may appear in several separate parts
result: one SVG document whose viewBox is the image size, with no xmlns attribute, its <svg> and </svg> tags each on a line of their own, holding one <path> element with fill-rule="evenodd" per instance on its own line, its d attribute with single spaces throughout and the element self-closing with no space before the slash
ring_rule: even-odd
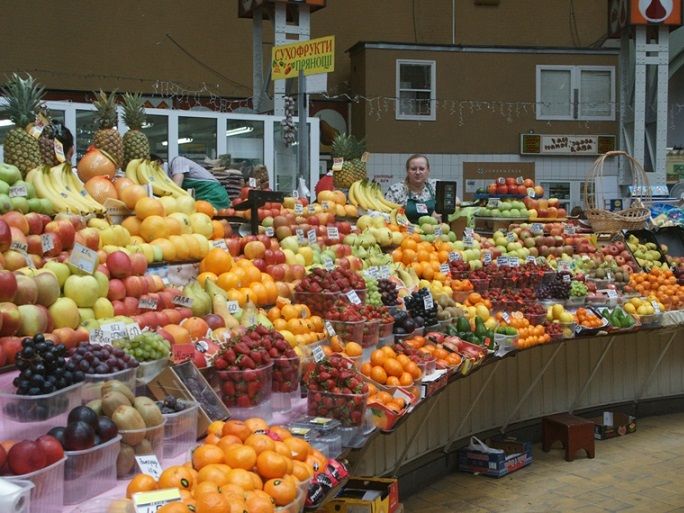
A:
<svg viewBox="0 0 684 513">
<path fill-rule="evenodd" d="M 402 205 L 409 221 L 416 223 L 418 218 L 434 214 L 436 187 L 437 180 L 430 178 L 430 161 L 415 153 L 406 161 L 406 178 L 391 185 L 385 198 Z"/>
</svg>

